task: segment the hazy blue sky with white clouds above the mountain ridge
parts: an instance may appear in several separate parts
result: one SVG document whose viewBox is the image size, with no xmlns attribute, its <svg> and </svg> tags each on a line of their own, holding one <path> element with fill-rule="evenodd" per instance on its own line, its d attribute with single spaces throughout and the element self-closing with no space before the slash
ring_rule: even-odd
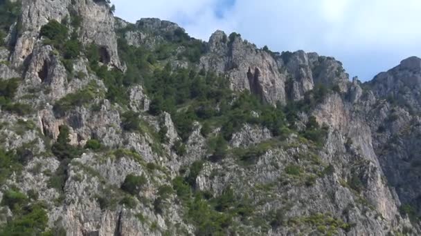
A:
<svg viewBox="0 0 421 236">
<path fill-rule="evenodd" d="M 157 17 L 206 41 L 224 30 L 273 51 L 318 52 L 364 81 L 406 57 L 421 57 L 420 0 L 111 1 L 127 21 Z"/>
</svg>

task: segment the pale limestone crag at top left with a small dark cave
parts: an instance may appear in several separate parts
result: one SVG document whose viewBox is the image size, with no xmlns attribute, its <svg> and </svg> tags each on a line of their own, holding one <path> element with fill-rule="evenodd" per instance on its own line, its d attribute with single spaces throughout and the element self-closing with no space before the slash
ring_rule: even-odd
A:
<svg viewBox="0 0 421 236">
<path fill-rule="evenodd" d="M 21 66 L 39 41 L 39 30 L 48 21 L 69 19 L 70 14 L 78 14 L 82 19 L 79 40 L 84 44 L 96 43 L 100 46 L 102 63 L 124 70 L 118 59 L 117 37 L 114 31 L 114 17 L 105 1 L 22 1 L 21 29 L 16 39 L 11 61 L 15 67 Z"/>
</svg>

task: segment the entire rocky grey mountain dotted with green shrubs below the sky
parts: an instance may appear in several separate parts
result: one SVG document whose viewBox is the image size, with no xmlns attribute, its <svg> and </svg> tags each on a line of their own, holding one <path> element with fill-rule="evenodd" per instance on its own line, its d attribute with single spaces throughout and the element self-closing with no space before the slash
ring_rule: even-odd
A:
<svg viewBox="0 0 421 236">
<path fill-rule="evenodd" d="M 0 235 L 419 235 L 421 59 L 372 81 L 106 0 L 0 1 Z"/>
</svg>

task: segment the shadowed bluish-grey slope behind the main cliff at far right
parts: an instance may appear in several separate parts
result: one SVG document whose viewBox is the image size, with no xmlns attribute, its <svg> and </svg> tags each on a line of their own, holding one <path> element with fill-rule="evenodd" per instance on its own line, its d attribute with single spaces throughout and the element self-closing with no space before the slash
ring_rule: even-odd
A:
<svg viewBox="0 0 421 236">
<path fill-rule="evenodd" d="M 418 153 L 421 59 L 410 57 L 366 84 L 378 99 L 368 113 L 375 150 L 389 183 L 415 217 L 420 213 Z"/>
</svg>

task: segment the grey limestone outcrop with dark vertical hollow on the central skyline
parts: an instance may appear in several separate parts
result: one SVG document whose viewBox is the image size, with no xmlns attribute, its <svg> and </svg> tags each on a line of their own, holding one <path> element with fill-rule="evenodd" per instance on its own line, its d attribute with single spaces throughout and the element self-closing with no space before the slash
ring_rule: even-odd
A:
<svg viewBox="0 0 421 236">
<path fill-rule="evenodd" d="M 286 78 L 278 71 L 275 59 L 239 36 L 229 39 L 224 32 L 215 32 L 200 62 L 205 70 L 228 76 L 233 90 L 249 90 L 269 104 L 285 104 Z"/>
</svg>

